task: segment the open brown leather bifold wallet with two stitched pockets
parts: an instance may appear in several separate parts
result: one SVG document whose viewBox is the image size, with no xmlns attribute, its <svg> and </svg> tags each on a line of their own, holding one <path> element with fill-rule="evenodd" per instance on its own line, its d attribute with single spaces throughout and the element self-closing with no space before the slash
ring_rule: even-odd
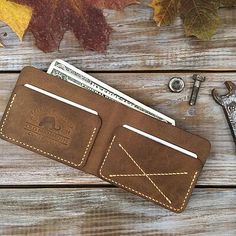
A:
<svg viewBox="0 0 236 236">
<path fill-rule="evenodd" d="M 206 139 L 32 67 L 19 76 L 0 135 L 174 212 L 210 151 Z"/>
</svg>

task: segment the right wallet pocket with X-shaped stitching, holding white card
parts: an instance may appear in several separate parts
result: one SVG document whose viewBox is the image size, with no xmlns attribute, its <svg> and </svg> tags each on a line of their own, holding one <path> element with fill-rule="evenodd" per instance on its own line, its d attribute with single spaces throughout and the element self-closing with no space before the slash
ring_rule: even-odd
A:
<svg viewBox="0 0 236 236">
<path fill-rule="evenodd" d="M 127 125 L 116 129 L 100 167 L 100 176 L 181 212 L 202 169 L 198 153 L 144 134 L 147 134 L 145 130 Z"/>
</svg>

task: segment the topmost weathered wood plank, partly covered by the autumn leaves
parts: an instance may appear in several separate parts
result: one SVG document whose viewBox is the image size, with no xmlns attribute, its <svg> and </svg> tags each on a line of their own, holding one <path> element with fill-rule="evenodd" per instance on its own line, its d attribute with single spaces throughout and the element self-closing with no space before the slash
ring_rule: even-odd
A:
<svg viewBox="0 0 236 236">
<path fill-rule="evenodd" d="M 71 33 L 67 33 L 60 51 L 44 54 L 27 34 L 24 42 L 3 24 L 0 39 L 0 71 L 21 70 L 26 65 L 46 69 L 55 58 L 67 59 L 83 70 L 160 70 L 236 68 L 236 9 L 221 9 L 222 25 L 209 42 L 184 37 L 182 22 L 157 29 L 152 19 L 150 0 L 130 6 L 124 12 L 105 11 L 114 28 L 106 53 L 84 51 Z M 7 37 L 4 33 L 7 32 Z"/>
</svg>

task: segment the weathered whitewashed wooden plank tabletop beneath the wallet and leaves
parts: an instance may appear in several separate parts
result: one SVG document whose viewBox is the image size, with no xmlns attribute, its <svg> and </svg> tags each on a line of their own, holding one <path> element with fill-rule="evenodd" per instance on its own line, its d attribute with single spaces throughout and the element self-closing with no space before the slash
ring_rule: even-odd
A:
<svg viewBox="0 0 236 236">
<path fill-rule="evenodd" d="M 0 115 L 20 70 L 46 70 L 61 58 L 208 138 L 211 155 L 187 209 L 171 213 L 58 162 L 0 141 L 0 235 L 236 235 L 236 155 L 222 109 L 211 90 L 236 82 L 236 9 L 221 9 L 222 25 L 209 42 L 184 37 L 180 19 L 158 30 L 146 6 L 105 11 L 114 28 L 106 53 L 84 51 L 67 33 L 60 51 L 44 54 L 31 34 L 24 42 L 3 24 L 0 39 Z M 6 34 L 4 34 L 7 32 Z M 189 107 L 195 72 L 207 77 Z M 181 76 L 186 89 L 167 88 Z"/>
</svg>

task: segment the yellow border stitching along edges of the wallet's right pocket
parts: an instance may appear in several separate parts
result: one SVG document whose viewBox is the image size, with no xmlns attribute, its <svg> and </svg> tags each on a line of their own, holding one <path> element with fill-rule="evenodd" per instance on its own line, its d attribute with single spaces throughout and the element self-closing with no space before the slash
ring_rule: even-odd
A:
<svg viewBox="0 0 236 236">
<path fill-rule="evenodd" d="M 194 181 L 195 181 L 195 179 L 196 179 L 196 177 L 197 177 L 197 175 L 198 175 L 198 171 L 196 171 L 195 174 L 193 175 L 192 181 L 191 181 L 191 183 L 190 183 L 190 185 L 189 185 L 188 191 L 186 192 L 186 195 L 185 195 L 185 197 L 184 197 L 184 200 L 183 200 L 183 203 L 182 203 L 181 207 L 180 207 L 180 208 L 172 207 L 172 206 L 167 205 L 167 204 L 165 204 L 165 203 L 163 203 L 163 202 L 161 202 L 161 201 L 159 201 L 159 200 L 157 200 L 157 199 L 155 199 L 155 198 L 152 198 L 152 197 L 150 197 L 150 196 L 148 196 L 148 195 L 146 195 L 146 194 L 143 194 L 143 193 L 141 193 L 141 192 L 139 192 L 139 191 L 137 191 L 137 190 L 134 190 L 134 189 L 132 189 L 132 188 L 130 188 L 130 187 L 128 187 L 128 186 L 125 186 L 125 185 L 123 185 L 123 184 L 121 184 L 121 183 L 119 183 L 119 182 L 117 182 L 117 181 L 114 181 L 114 180 L 112 180 L 112 179 L 110 179 L 110 178 L 107 178 L 106 176 L 104 176 L 104 175 L 102 174 L 102 169 L 103 169 L 103 167 L 104 167 L 104 165 L 105 165 L 105 162 L 106 162 L 106 160 L 107 160 L 107 157 L 109 156 L 109 153 L 110 153 L 110 151 L 111 151 L 111 148 L 112 148 L 112 145 L 113 145 L 115 139 L 116 139 L 116 136 L 114 136 L 114 137 L 112 138 L 112 141 L 111 141 L 111 143 L 110 143 L 110 146 L 109 146 L 109 148 L 108 148 L 108 150 L 107 150 L 106 156 L 105 156 L 105 158 L 104 158 L 104 160 L 103 160 L 103 163 L 102 163 L 102 165 L 101 165 L 101 168 L 100 168 L 100 170 L 99 170 L 100 175 L 101 175 L 104 179 L 110 181 L 111 183 L 114 183 L 114 184 L 116 184 L 116 185 L 118 185 L 118 186 L 121 186 L 121 187 L 123 187 L 123 188 L 125 188 L 125 189 L 127 189 L 127 190 L 129 190 L 129 191 L 131 191 L 131 192 L 134 192 L 134 193 L 136 193 L 136 194 L 138 194 L 138 195 L 140 195 L 140 196 L 146 197 L 146 198 L 148 198 L 148 199 L 150 199 L 150 200 L 152 200 L 152 201 L 154 201 L 154 202 L 157 202 L 158 204 L 160 204 L 160 205 L 162 205 L 162 206 L 164 206 L 164 207 L 166 207 L 166 208 L 168 208 L 168 209 L 174 210 L 174 211 L 176 211 L 176 212 L 181 211 L 181 210 L 184 208 L 184 205 L 185 205 L 185 202 L 186 202 L 186 200 L 187 200 L 187 198 L 188 198 L 188 196 L 189 196 L 190 190 L 191 190 L 191 188 L 192 188 L 192 186 L 193 186 L 193 183 L 194 183 Z"/>
</svg>

